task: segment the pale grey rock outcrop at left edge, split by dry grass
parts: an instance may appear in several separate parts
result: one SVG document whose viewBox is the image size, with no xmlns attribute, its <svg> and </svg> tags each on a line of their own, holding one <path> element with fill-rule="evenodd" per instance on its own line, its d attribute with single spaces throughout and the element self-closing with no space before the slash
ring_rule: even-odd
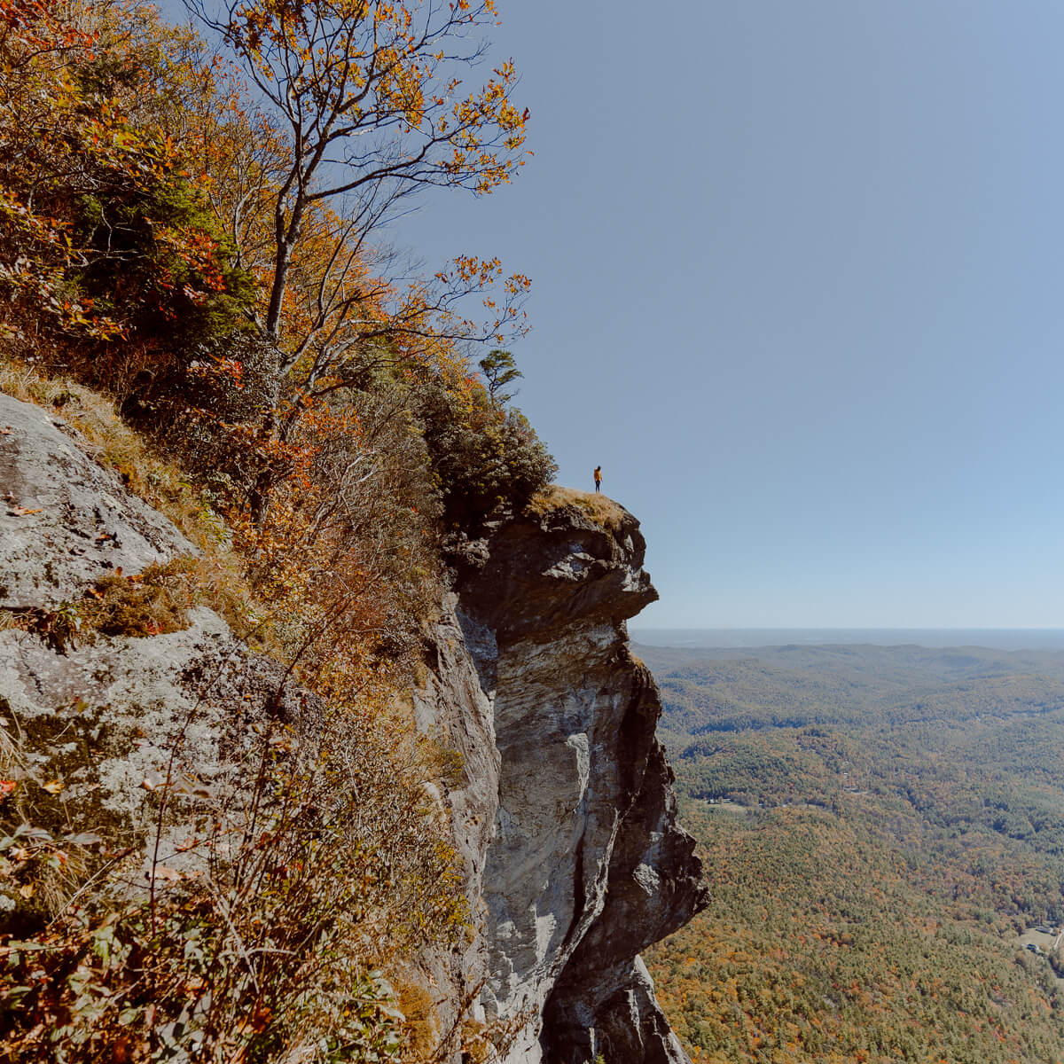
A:
<svg viewBox="0 0 1064 1064">
<path fill-rule="evenodd" d="M 0 428 L 10 429 L 0 434 L 5 491 L 41 509 L 0 516 L 0 606 L 80 598 L 112 568 L 136 572 L 192 549 L 47 411 L 0 395 Z M 114 538 L 96 544 L 97 528 Z M 205 609 L 189 611 L 183 631 L 97 635 L 63 651 L 20 629 L 0 631 L 0 717 L 24 738 L 21 770 L 38 783 L 61 780 L 71 810 L 90 809 L 133 846 L 150 830 L 144 781 L 187 771 L 197 786 L 231 794 L 249 725 L 280 716 L 313 728 L 317 701 L 284 681 L 279 663 L 250 653 Z M 164 843 L 165 861 L 173 854 Z"/>
</svg>

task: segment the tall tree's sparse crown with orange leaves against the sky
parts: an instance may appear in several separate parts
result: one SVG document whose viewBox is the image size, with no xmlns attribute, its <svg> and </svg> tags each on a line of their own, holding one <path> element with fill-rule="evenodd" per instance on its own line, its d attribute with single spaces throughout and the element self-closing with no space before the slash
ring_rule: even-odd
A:
<svg viewBox="0 0 1064 1064">
<path fill-rule="evenodd" d="M 261 189 L 270 232 L 255 269 L 259 325 L 283 351 L 280 371 L 313 387 L 366 361 L 420 353 L 425 337 L 501 335 L 525 278 L 506 280 L 499 303 L 485 300 L 489 320 L 475 323 L 463 300 L 500 278 L 497 260 L 462 256 L 399 290 L 402 270 L 378 246 L 425 188 L 484 195 L 523 164 L 528 112 L 511 99 L 513 64 L 472 90 L 462 80 L 483 57 L 494 0 L 185 2 L 283 137 Z"/>
</svg>

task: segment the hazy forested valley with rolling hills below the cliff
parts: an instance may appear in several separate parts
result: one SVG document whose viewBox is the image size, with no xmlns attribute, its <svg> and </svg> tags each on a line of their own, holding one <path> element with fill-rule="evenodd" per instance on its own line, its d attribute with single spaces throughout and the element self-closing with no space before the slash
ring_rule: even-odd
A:
<svg viewBox="0 0 1064 1064">
<path fill-rule="evenodd" d="M 1064 654 L 637 652 L 712 895 L 648 957 L 696 1064 L 1064 1060 Z"/>
</svg>

